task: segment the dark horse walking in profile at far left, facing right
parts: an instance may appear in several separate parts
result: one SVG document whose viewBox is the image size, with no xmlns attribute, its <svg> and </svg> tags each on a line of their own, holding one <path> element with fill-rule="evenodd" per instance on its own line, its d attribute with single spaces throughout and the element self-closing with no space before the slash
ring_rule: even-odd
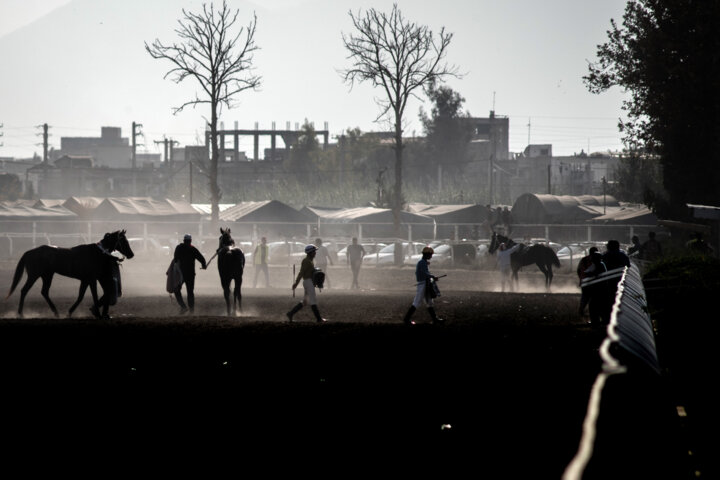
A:
<svg viewBox="0 0 720 480">
<path fill-rule="evenodd" d="M 119 282 L 118 262 L 122 261 L 122 259 L 111 255 L 114 251 L 121 253 L 127 258 L 135 256 L 125 237 L 125 230 L 106 233 L 98 243 L 78 245 L 72 248 L 42 245 L 28 250 L 20 257 L 7 297 L 9 298 L 15 291 L 15 287 L 17 287 L 20 278 L 22 278 L 23 271 L 27 271 L 27 280 L 25 281 L 25 285 L 20 289 L 18 315 L 22 317 L 25 295 L 27 295 L 33 284 L 35 284 L 35 281 L 38 278 L 42 278 L 43 285 L 40 293 L 57 317 L 57 308 L 55 308 L 52 300 L 50 300 L 49 295 L 53 275 L 57 273 L 58 275 L 80 280 L 78 299 L 72 307 L 70 307 L 68 316 L 72 315 L 82 301 L 85 291 L 90 287 L 90 292 L 93 297 L 93 306 L 90 310 L 93 315 L 99 317 L 99 305 L 102 303 L 102 317 L 107 318 L 108 307 L 114 304 L 117 298 L 118 285 L 116 285 L 116 281 Z M 99 301 L 97 298 L 96 282 L 100 282 L 100 286 L 103 289 L 103 296 Z"/>
</svg>

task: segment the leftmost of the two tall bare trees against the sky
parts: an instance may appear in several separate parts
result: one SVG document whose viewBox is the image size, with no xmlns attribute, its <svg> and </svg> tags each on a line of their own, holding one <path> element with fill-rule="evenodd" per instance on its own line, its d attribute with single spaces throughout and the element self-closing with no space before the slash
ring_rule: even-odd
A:
<svg viewBox="0 0 720 480">
<path fill-rule="evenodd" d="M 252 74 L 257 16 L 253 14 L 247 27 L 240 27 L 233 35 L 239 10 L 232 12 L 223 0 L 222 7 L 215 9 L 203 4 L 201 13 L 191 13 L 183 9 L 183 18 L 178 20 L 175 29 L 179 43 L 164 45 L 155 40 L 151 45 L 145 43 L 145 50 L 156 59 L 168 60 L 173 67 L 164 78 L 172 77 L 176 83 L 186 78 L 194 78 L 200 84 L 204 95 L 195 94 L 195 99 L 187 101 L 173 113 L 182 112 L 185 107 L 210 104 L 210 140 L 212 154 L 210 165 L 205 166 L 210 187 L 212 204 L 211 220 L 217 223 L 219 203 L 222 193 L 217 182 L 218 174 L 218 133 L 217 123 L 220 109 L 225 105 L 232 108 L 232 97 L 244 90 L 255 89 L 261 78 Z"/>
</svg>

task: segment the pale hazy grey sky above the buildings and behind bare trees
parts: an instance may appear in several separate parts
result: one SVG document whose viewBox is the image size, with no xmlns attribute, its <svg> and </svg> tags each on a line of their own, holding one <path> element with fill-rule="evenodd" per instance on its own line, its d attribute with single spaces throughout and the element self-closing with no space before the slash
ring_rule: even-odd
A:
<svg viewBox="0 0 720 480">
<path fill-rule="evenodd" d="M 207 3 L 207 2 L 206 2 Z M 216 2 L 217 3 L 217 2 Z M 582 77 L 607 40 L 610 19 L 621 21 L 625 0 L 396 0 L 407 20 L 453 34 L 447 61 L 463 75 L 446 84 L 464 110 L 510 121 L 510 151 L 552 144 L 554 155 L 622 149 L 617 124 L 625 94 L 588 92 Z M 144 43 L 177 41 L 182 9 L 196 0 L 0 0 L 0 157 L 42 155 L 42 124 L 51 148 L 61 137 L 98 137 L 103 126 L 131 135 L 141 124 L 139 151 L 162 152 L 164 138 L 180 146 L 204 139 L 209 108 L 173 107 L 199 92 L 186 80 L 163 78 L 169 63 L 152 59 Z M 226 129 L 285 129 L 325 122 L 331 141 L 349 128 L 389 130 L 376 122 L 382 92 L 352 88 L 342 35 L 353 32 L 349 12 L 390 11 L 390 0 L 229 0 L 247 26 L 257 15 L 254 74 L 260 88 L 223 110 Z M 413 99 L 406 135 L 422 135 Z M 264 142 L 264 140 L 263 140 Z M 261 148 L 265 145 L 261 143 Z M 252 139 L 240 149 L 252 156 Z"/>
</svg>

